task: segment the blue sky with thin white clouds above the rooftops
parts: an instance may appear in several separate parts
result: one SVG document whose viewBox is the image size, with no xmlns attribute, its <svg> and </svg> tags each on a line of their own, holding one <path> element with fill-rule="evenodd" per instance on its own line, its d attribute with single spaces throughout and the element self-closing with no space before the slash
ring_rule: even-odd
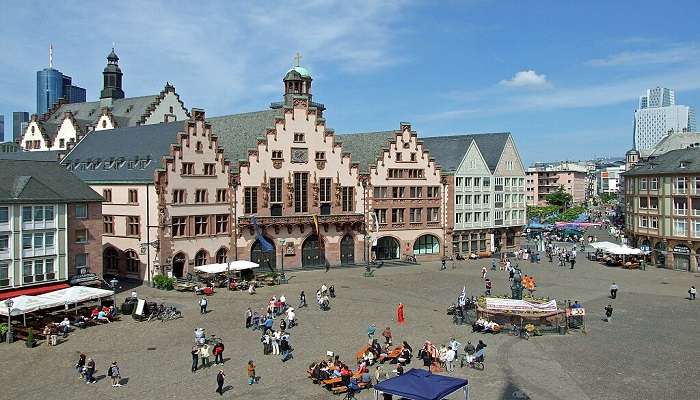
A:
<svg viewBox="0 0 700 400">
<path fill-rule="evenodd" d="M 210 116 L 278 101 L 299 51 L 336 132 L 410 121 L 424 136 L 510 131 L 526 163 L 621 156 L 646 88 L 700 104 L 700 5 L 662 4 L 12 0 L 0 5 L 0 114 L 9 134 L 12 111 L 36 111 L 49 43 L 88 100 L 115 42 L 127 96 L 169 81 Z"/>
</svg>

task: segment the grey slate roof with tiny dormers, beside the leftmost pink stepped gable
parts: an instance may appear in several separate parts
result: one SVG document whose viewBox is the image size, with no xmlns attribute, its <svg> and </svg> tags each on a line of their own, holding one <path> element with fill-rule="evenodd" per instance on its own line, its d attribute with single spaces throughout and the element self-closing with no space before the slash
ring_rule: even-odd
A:
<svg viewBox="0 0 700 400">
<path fill-rule="evenodd" d="M 170 154 L 185 121 L 95 131 L 61 164 L 85 182 L 153 182 L 162 157 Z"/>
</svg>

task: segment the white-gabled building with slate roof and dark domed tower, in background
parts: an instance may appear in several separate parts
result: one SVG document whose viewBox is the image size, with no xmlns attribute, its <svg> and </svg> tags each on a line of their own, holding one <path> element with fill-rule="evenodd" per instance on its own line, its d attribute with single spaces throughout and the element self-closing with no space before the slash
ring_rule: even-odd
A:
<svg viewBox="0 0 700 400">
<path fill-rule="evenodd" d="M 59 100 L 44 113 L 32 115 L 19 143 L 24 150 L 68 150 L 93 131 L 183 121 L 188 112 L 175 87 L 166 83 L 152 96 L 124 97 L 122 72 L 114 50 L 107 56 L 100 101 Z"/>
</svg>

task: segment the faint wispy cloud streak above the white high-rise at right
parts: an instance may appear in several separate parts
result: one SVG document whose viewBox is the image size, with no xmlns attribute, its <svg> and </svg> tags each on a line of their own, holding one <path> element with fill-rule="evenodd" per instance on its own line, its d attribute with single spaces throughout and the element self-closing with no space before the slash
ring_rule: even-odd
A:
<svg viewBox="0 0 700 400">
<path fill-rule="evenodd" d="M 620 67 L 654 64 L 677 64 L 697 60 L 700 47 L 695 44 L 674 45 L 658 50 L 623 51 L 587 62 L 593 67 Z"/>
</svg>

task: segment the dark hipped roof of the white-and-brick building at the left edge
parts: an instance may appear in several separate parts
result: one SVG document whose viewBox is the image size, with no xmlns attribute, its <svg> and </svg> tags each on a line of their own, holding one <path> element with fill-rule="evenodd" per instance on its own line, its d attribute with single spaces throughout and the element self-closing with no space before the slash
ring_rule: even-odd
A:
<svg viewBox="0 0 700 400">
<path fill-rule="evenodd" d="M 0 160 L 0 203 L 102 201 L 55 161 Z"/>
</svg>

